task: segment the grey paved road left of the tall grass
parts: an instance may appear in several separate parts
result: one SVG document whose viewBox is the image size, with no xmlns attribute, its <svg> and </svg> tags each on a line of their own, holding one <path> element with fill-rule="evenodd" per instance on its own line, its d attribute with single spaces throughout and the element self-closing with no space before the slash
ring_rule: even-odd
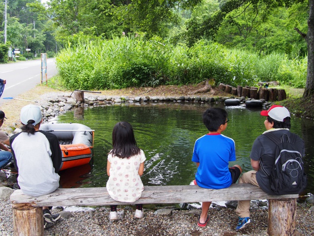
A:
<svg viewBox="0 0 314 236">
<path fill-rule="evenodd" d="M 55 60 L 47 60 L 48 79 L 57 74 Z M 16 97 L 26 92 L 41 80 L 41 60 L 18 61 L 15 63 L 0 64 L 0 79 L 6 80 L 4 91 L 0 98 L 0 104 L 6 101 L 5 97 Z"/>
</svg>

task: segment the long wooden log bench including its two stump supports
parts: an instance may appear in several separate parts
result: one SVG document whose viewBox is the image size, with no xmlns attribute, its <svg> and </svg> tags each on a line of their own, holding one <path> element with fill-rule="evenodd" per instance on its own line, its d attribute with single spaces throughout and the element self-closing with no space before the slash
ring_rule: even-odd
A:
<svg viewBox="0 0 314 236">
<path fill-rule="evenodd" d="M 233 184 L 224 189 L 206 189 L 197 185 L 145 186 L 142 197 L 132 204 L 175 204 L 231 200 L 268 199 L 268 230 L 270 236 L 293 235 L 298 194 L 269 195 L 251 184 Z M 45 206 L 107 206 L 130 205 L 116 202 L 105 187 L 59 188 L 40 197 L 30 197 L 16 190 L 11 195 L 15 236 L 44 235 Z M 235 214 L 236 218 L 236 214 Z"/>
</svg>

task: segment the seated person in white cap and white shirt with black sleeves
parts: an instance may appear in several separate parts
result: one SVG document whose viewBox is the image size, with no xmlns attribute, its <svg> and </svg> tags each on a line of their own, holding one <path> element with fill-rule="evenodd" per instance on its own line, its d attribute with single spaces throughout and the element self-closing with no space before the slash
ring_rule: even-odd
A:
<svg viewBox="0 0 314 236">
<path fill-rule="evenodd" d="M 39 130 L 42 122 L 40 107 L 27 105 L 21 110 L 22 132 L 10 138 L 14 165 L 19 173 L 18 184 L 29 196 L 41 196 L 59 187 L 57 174 L 62 154 L 57 137 Z M 49 207 L 43 207 L 45 229 L 56 224 L 60 215 L 54 217 Z"/>
</svg>

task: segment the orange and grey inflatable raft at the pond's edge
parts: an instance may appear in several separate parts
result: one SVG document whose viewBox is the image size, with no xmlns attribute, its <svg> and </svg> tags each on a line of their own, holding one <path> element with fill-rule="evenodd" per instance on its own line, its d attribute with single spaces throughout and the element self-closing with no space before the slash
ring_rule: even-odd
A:
<svg viewBox="0 0 314 236">
<path fill-rule="evenodd" d="M 57 136 L 62 151 L 60 171 L 88 164 L 93 156 L 94 130 L 79 123 L 41 124 L 40 130 Z"/>
</svg>

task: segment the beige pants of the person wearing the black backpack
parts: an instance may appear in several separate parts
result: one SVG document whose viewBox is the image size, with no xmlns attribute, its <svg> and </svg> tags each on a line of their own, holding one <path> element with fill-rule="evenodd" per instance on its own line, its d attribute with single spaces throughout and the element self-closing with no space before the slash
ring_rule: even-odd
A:
<svg viewBox="0 0 314 236">
<path fill-rule="evenodd" d="M 260 187 L 256 181 L 256 172 L 257 171 L 249 171 L 244 173 L 239 178 L 239 183 L 250 183 Z M 241 218 L 250 217 L 250 202 L 250 200 L 238 201 L 235 213 Z"/>
</svg>

